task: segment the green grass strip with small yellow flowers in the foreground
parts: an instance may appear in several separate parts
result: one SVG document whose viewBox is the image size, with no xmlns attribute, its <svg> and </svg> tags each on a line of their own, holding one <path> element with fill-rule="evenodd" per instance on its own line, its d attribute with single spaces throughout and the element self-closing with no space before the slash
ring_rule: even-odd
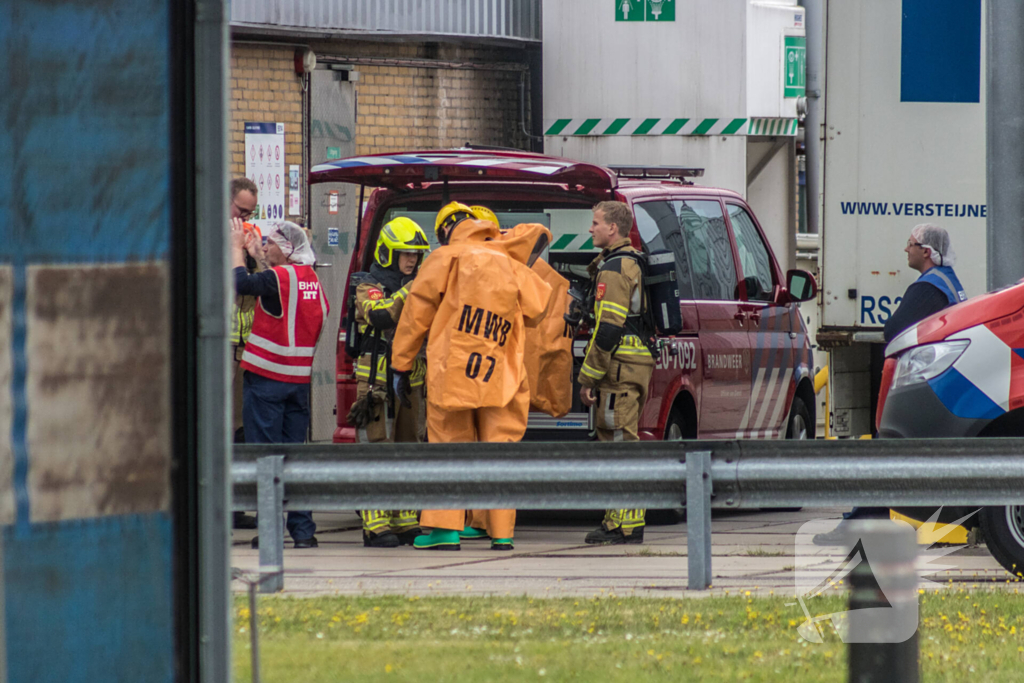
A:
<svg viewBox="0 0 1024 683">
<path fill-rule="evenodd" d="M 1019 681 L 1024 596 L 922 596 L 922 680 Z M 845 681 L 846 646 L 803 641 L 792 598 L 263 598 L 262 680 Z M 812 614 L 845 608 L 836 593 Z M 234 601 L 234 680 L 247 683 L 247 598 Z"/>
</svg>

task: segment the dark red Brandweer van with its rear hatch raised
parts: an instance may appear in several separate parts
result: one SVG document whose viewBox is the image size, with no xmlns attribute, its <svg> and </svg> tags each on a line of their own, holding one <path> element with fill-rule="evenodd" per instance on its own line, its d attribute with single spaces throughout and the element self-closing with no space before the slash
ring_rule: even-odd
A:
<svg viewBox="0 0 1024 683">
<path fill-rule="evenodd" d="M 312 169 L 310 182 L 373 188 L 349 278 L 370 269 L 385 223 L 408 216 L 434 240 L 437 211 L 459 201 L 488 207 L 503 228 L 547 225 L 554 240 L 546 258 L 585 288 L 587 264 L 599 251 L 588 232 L 591 208 L 603 200 L 626 202 L 636 221 L 634 246 L 648 252 L 649 272 L 667 274 L 662 280 L 670 285 L 669 295 L 654 302 L 654 314 L 669 316 L 678 306 L 682 318 L 678 334 L 663 337 L 641 437 L 813 437 L 811 350 L 797 304 L 815 296 L 814 279 L 802 270 L 783 273 L 742 198 L 687 179 L 697 175 L 462 148 L 330 161 Z M 345 423 L 355 376 L 344 335 L 342 326 L 335 442 L 354 440 Z M 582 331 L 575 342 L 578 366 L 587 335 Z M 589 432 L 589 415 L 577 402 L 562 418 L 532 414 L 527 438 L 586 439 Z"/>
</svg>

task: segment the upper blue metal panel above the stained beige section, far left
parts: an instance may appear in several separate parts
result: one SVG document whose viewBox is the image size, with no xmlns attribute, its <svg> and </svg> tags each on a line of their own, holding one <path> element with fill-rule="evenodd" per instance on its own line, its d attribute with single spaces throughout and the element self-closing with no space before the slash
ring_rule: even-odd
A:
<svg viewBox="0 0 1024 683">
<path fill-rule="evenodd" d="M 169 4 L 0 4 L 0 260 L 164 258 Z"/>
</svg>

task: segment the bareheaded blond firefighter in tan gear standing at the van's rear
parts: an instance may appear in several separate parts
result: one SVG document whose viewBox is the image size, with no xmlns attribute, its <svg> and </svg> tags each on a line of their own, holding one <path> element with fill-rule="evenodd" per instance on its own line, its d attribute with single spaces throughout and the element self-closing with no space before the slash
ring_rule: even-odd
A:
<svg viewBox="0 0 1024 683">
<path fill-rule="evenodd" d="M 597 438 L 601 441 L 639 439 L 640 415 L 654 358 L 644 344 L 646 301 L 643 271 L 631 246 L 633 214 L 622 202 L 594 207 L 590 233 L 601 254 L 588 268 L 593 284 L 594 334 L 580 370 L 580 398 L 594 407 Z M 607 510 L 601 526 L 586 542 L 643 543 L 645 510 Z"/>
</svg>

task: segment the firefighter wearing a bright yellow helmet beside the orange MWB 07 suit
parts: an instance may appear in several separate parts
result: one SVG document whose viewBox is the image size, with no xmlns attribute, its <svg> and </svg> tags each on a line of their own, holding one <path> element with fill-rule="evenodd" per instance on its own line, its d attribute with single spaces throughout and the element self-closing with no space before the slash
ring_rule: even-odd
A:
<svg viewBox="0 0 1024 683">
<path fill-rule="evenodd" d="M 387 378 L 390 340 L 401 316 L 409 286 L 429 249 L 427 236 L 419 225 L 409 218 L 395 218 L 381 228 L 374 264 L 356 287 L 355 321 L 360 332 L 360 354 L 355 367 L 356 402 L 349 423 L 356 427 L 360 441 L 423 441 L 426 359 L 421 353 L 414 361 L 408 396 L 392 399 L 388 395 Z M 416 510 L 362 510 L 360 516 L 364 545 L 368 547 L 412 545 L 420 535 Z"/>
</svg>

